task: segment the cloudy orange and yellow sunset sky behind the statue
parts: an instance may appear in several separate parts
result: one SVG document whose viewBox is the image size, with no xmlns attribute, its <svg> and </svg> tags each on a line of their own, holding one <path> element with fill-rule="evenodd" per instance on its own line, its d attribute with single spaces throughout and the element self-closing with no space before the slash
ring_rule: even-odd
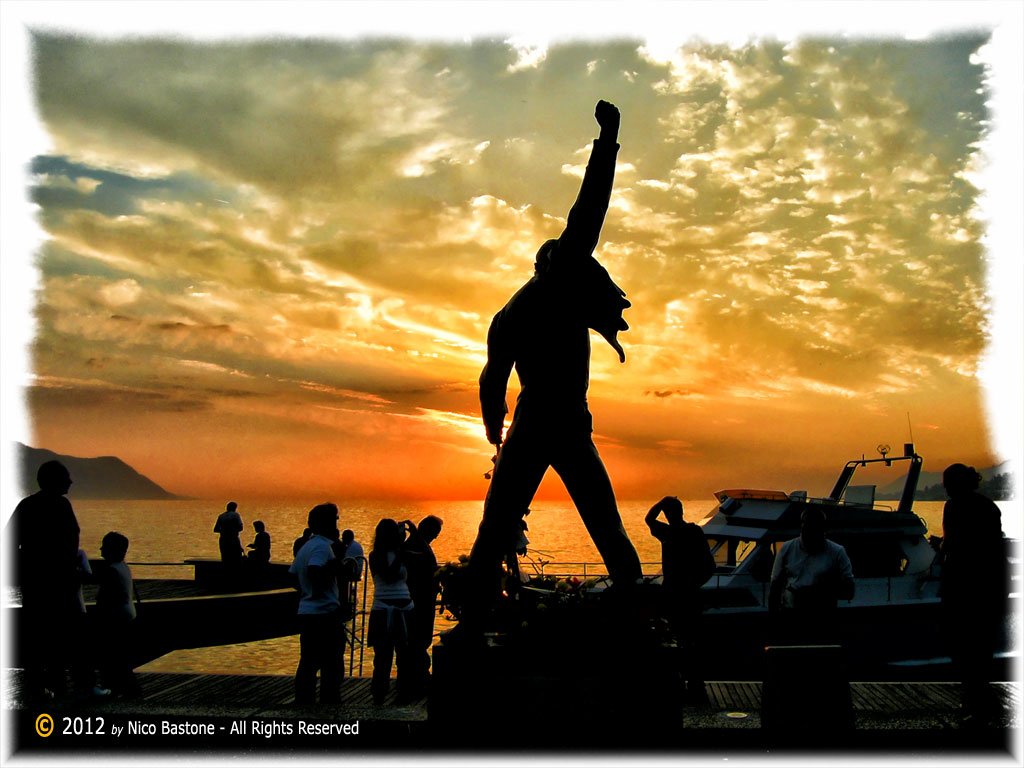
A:
<svg viewBox="0 0 1024 768">
<path fill-rule="evenodd" d="M 990 385 L 1020 382 L 995 143 L 1020 32 L 969 5 L 854 34 L 664 24 L 687 4 L 574 36 L 30 19 L 4 442 L 201 498 L 482 499 L 487 325 L 564 226 L 603 98 L 595 255 L 632 307 L 625 364 L 592 338 L 589 399 L 620 498 L 823 494 L 911 432 L 926 470 L 1016 459 Z"/>
</svg>

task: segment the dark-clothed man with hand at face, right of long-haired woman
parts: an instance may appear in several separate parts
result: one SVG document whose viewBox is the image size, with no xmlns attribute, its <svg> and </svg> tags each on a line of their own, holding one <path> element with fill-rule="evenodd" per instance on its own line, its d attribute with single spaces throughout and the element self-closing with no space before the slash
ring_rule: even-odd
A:
<svg viewBox="0 0 1024 768">
<path fill-rule="evenodd" d="M 431 544 L 441 532 L 443 522 L 436 515 L 427 515 L 414 525 L 404 522 L 409 531 L 402 559 L 408 577 L 406 583 L 413 598 L 413 616 L 409 623 L 410 698 L 426 693 L 430 681 L 430 645 L 434 639 L 434 614 L 437 612 L 437 558 Z"/>
</svg>

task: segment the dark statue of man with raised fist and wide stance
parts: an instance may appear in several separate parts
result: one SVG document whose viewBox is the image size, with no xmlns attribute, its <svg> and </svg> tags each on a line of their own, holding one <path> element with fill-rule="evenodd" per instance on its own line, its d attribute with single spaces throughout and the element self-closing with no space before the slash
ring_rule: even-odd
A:
<svg viewBox="0 0 1024 768">
<path fill-rule="evenodd" d="M 597 331 L 625 361 L 617 341 L 630 306 L 593 256 L 608 209 L 618 152 L 618 110 L 598 101 L 594 140 L 580 194 L 565 229 L 537 252 L 535 273 L 495 315 L 487 331 L 487 362 L 480 374 L 480 407 L 497 459 L 476 541 L 469 556 L 473 593 L 466 617 L 497 598 L 501 562 L 521 530 L 523 510 L 548 467 L 561 477 L 615 586 L 641 579 L 640 558 L 623 527 L 615 495 L 592 436 L 587 404 L 590 332 Z M 503 435 L 505 398 L 513 367 L 520 391 L 512 425 Z M 474 607 L 475 606 L 475 607 Z"/>
</svg>

